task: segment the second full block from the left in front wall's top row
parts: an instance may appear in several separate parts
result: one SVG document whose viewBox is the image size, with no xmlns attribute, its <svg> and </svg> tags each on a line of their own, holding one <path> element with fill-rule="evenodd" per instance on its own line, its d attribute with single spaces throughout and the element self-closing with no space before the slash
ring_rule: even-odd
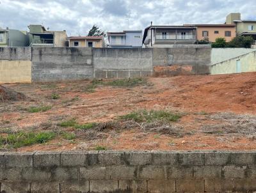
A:
<svg viewBox="0 0 256 193">
<path fill-rule="evenodd" d="M 33 166 L 35 167 L 60 166 L 60 153 L 37 152 L 34 154 Z"/>
</svg>

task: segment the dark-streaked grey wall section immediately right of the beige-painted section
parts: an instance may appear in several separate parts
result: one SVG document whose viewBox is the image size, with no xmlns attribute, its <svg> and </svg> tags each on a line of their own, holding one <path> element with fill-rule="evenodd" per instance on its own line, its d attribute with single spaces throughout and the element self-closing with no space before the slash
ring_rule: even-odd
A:
<svg viewBox="0 0 256 193">
<path fill-rule="evenodd" d="M 33 47 L 32 81 L 72 81 L 93 78 L 92 48 Z"/>
</svg>

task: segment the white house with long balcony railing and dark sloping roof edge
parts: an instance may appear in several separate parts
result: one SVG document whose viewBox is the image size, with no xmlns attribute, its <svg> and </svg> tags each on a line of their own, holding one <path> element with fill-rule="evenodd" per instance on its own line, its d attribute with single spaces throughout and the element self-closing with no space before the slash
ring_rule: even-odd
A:
<svg viewBox="0 0 256 193">
<path fill-rule="evenodd" d="M 173 44 L 194 44 L 195 26 L 148 26 L 143 35 L 144 47 L 170 47 Z"/>
</svg>

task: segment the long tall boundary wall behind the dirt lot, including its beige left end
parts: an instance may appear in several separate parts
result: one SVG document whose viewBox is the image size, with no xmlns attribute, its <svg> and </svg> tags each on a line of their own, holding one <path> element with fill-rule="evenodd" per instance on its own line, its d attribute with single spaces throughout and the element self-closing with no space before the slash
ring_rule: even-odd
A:
<svg viewBox="0 0 256 193">
<path fill-rule="evenodd" d="M 211 63 L 211 48 L 196 45 L 166 49 L 3 47 L 0 48 L 0 62 L 3 61 L 4 66 L 0 68 L 2 83 L 148 77 L 157 73 L 162 75 L 159 72 L 161 68 L 154 73 L 156 66 L 170 65 L 189 66 L 189 74 L 207 74 Z M 15 70 L 10 70 L 12 68 Z M 173 69 L 168 68 L 168 73 L 164 71 L 164 75 L 182 74 L 179 70 L 172 72 Z"/>
</svg>

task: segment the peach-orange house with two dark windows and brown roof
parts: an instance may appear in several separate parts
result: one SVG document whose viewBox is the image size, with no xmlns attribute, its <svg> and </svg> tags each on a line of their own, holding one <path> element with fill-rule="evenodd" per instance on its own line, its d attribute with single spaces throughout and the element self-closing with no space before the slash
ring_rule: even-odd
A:
<svg viewBox="0 0 256 193">
<path fill-rule="evenodd" d="M 225 38 L 227 42 L 230 42 L 236 37 L 235 24 L 196 24 L 184 26 L 196 27 L 197 40 L 209 40 L 209 42 L 215 42 L 216 38 Z"/>
</svg>

